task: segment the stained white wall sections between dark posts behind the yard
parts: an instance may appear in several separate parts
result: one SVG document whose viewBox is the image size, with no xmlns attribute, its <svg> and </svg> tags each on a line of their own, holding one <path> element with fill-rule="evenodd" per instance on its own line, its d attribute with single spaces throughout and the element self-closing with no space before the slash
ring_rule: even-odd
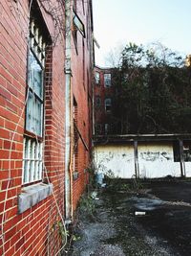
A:
<svg viewBox="0 0 191 256">
<path fill-rule="evenodd" d="M 118 177 L 135 177 L 133 144 L 96 146 L 95 162 L 99 172 L 112 171 Z M 180 162 L 174 162 L 173 144 L 167 142 L 138 143 L 138 168 L 139 177 L 180 176 Z M 185 162 L 185 174 L 191 176 L 191 162 Z"/>
</svg>

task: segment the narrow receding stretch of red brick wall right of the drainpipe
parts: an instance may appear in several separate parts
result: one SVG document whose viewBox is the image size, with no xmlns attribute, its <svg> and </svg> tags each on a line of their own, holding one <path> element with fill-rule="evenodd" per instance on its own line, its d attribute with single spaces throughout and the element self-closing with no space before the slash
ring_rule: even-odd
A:
<svg viewBox="0 0 191 256">
<path fill-rule="evenodd" d="M 84 6 L 83 6 L 84 2 Z M 88 181 L 85 172 L 91 161 L 92 138 L 92 54 L 93 32 L 91 23 L 91 1 L 76 1 L 76 13 L 85 27 L 86 37 L 78 33 L 77 46 L 72 40 L 72 88 L 74 99 L 77 104 L 77 128 L 82 136 L 78 138 L 77 172 L 78 177 L 73 183 L 73 206 L 76 208 L 80 195 L 84 192 Z M 93 63 L 92 63 L 93 64 Z M 86 149 L 86 146 L 88 151 Z"/>
</svg>

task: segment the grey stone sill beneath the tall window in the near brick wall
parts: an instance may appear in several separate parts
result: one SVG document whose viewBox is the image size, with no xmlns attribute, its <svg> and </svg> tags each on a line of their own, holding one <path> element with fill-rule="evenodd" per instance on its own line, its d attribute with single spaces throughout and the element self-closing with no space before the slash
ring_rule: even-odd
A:
<svg viewBox="0 0 191 256">
<path fill-rule="evenodd" d="M 22 193 L 18 195 L 18 213 L 25 212 L 52 194 L 53 184 L 40 183 L 23 188 Z"/>
</svg>

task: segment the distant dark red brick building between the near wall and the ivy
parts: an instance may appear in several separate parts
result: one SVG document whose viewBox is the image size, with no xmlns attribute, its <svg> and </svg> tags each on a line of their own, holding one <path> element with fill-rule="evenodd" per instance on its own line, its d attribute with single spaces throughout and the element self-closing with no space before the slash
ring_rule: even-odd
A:
<svg viewBox="0 0 191 256">
<path fill-rule="evenodd" d="M 112 68 L 96 66 L 94 80 L 94 122 L 96 135 L 106 135 L 114 132 L 116 124 L 113 115 L 113 96 Z"/>
</svg>

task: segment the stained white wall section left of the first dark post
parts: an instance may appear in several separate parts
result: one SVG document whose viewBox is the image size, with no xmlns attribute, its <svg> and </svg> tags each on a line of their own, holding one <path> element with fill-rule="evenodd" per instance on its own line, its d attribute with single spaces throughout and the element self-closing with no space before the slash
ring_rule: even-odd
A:
<svg viewBox="0 0 191 256">
<path fill-rule="evenodd" d="M 134 148 L 129 146 L 96 146 L 96 168 L 99 172 L 112 173 L 117 177 L 131 178 L 135 175 Z"/>
</svg>

